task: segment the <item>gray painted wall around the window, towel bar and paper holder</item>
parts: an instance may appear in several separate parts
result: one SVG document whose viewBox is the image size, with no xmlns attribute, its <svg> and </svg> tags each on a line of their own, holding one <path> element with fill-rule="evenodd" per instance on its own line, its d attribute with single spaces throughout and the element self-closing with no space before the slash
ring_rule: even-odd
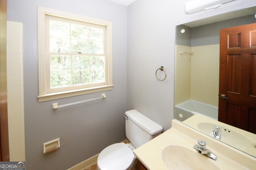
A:
<svg viewBox="0 0 256 170">
<path fill-rule="evenodd" d="M 98 98 L 86 94 L 38 103 L 38 6 L 82 14 L 113 23 L 113 84 L 107 98 L 52 110 L 52 103 L 68 104 Z M 24 104 L 26 165 L 28 170 L 70 168 L 106 146 L 126 139 L 127 7 L 108 0 L 8 0 L 7 20 L 24 25 Z M 60 149 L 43 154 L 43 143 L 60 137 Z"/>
</svg>

